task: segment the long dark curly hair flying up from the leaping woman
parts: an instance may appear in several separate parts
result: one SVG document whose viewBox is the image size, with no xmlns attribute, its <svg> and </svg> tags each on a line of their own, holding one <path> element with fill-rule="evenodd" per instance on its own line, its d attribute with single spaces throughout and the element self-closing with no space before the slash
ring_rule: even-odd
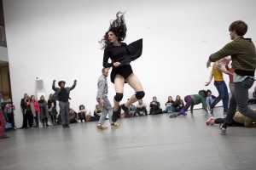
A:
<svg viewBox="0 0 256 170">
<path fill-rule="evenodd" d="M 99 43 L 102 44 L 102 49 L 106 48 L 110 42 L 108 41 L 108 32 L 112 31 L 113 34 L 118 37 L 118 41 L 122 42 L 125 40 L 126 37 L 126 24 L 125 24 L 125 13 L 118 12 L 116 14 L 115 20 L 110 20 L 110 26 L 108 28 L 108 31 L 105 33 L 104 37 L 102 38 Z"/>
</svg>

